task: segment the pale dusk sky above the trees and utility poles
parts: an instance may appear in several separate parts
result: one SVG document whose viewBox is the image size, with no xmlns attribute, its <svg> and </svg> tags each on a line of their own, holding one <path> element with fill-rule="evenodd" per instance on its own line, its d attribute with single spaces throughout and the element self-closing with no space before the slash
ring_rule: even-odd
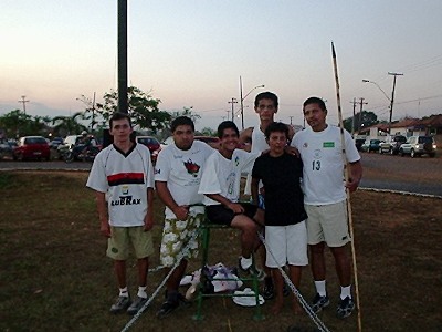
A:
<svg viewBox="0 0 442 332">
<path fill-rule="evenodd" d="M 192 107 L 197 129 L 231 117 L 240 76 L 245 127 L 259 123 L 253 101 L 263 91 L 280 98 L 276 121 L 302 125 L 303 102 L 319 96 L 337 124 L 332 42 L 344 118 L 361 97 L 365 111 L 389 118 L 389 72 L 403 74 L 393 120 L 442 113 L 440 0 L 127 3 L 129 85 L 161 100 L 160 110 Z M 27 114 L 71 115 L 84 110 L 82 95 L 101 102 L 117 87 L 117 0 L 1 0 L 0 31 L 0 115 L 23 110 L 22 96 Z"/>
</svg>

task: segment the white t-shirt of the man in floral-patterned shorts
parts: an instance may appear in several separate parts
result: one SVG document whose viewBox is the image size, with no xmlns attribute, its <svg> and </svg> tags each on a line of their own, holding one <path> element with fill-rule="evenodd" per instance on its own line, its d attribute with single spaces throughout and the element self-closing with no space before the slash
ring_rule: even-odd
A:
<svg viewBox="0 0 442 332">
<path fill-rule="evenodd" d="M 193 141 L 190 149 L 179 149 L 175 143 L 160 151 L 155 165 L 155 180 L 167 183 L 173 200 L 178 205 L 201 204 L 198 194 L 202 168 L 207 158 L 214 152 L 208 144 Z M 200 208 L 203 211 L 203 208 Z M 166 219 L 175 219 L 175 214 L 166 207 Z"/>
</svg>

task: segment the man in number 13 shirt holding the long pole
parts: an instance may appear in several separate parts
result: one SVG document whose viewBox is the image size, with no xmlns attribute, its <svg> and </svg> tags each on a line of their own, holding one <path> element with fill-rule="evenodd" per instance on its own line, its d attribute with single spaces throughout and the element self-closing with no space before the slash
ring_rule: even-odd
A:
<svg viewBox="0 0 442 332">
<path fill-rule="evenodd" d="M 351 263 L 348 246 L 346 188 L 355 191 L 362 176 L 360 156 L 350 134 L 326 123 L 327 108 L 323 100 L 304 102 L 304 117 L 309 128 L 298 132 L 292 141 L 303 159 L 304 205 L 307 211 L 307 238 L 316 295 L 312 309 L 319 312 L 329 304 L 326 291 L 325 243 L 335 258 L 340 282 L 337 317 L 346 318 L 355 309 L 351 297 Z M 349 180 L 344 180 L 343 138 L 348 160 Z"/>
</svg>

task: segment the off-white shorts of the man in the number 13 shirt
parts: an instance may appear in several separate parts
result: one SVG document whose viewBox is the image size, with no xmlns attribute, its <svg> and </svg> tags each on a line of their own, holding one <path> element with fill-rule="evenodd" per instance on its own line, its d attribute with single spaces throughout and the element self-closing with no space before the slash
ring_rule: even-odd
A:
<svg viewBox="0 0 442 332">
<path fill-rule="evenodd" d="M 305 205 L 308 245 L 326 242 L 328 247 L 343 247 L 350 241 L 346 201 L 329 205 Z"/>
</svg>

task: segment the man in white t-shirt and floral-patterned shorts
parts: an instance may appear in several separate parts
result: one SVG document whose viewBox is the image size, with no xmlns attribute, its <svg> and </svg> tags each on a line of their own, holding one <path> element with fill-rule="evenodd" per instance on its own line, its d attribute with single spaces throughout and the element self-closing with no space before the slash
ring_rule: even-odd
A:
<svg viewBox="0 0 442 332">
<path fill-rule="evenodd" d="M 166 283 L 167 299 L 157 313 L 164 318 L 186 302 L 178 292 L 188 259 L 198 256 L 196 238 L 189 242 L 204 217 L 203 195 L 198 194 L 206 159 L 214 152 L 208 144 L 194 141 L 194 124 L 187 116 L 171 123 L 173 142 L 159 154 L 155 166 L 155 185 L 159 198 L 166 205 L 160 260 L 166 267 L 165 276 L 177 262 L 180 251 L 189 245 L 185 257 Z"/>
</svg>

